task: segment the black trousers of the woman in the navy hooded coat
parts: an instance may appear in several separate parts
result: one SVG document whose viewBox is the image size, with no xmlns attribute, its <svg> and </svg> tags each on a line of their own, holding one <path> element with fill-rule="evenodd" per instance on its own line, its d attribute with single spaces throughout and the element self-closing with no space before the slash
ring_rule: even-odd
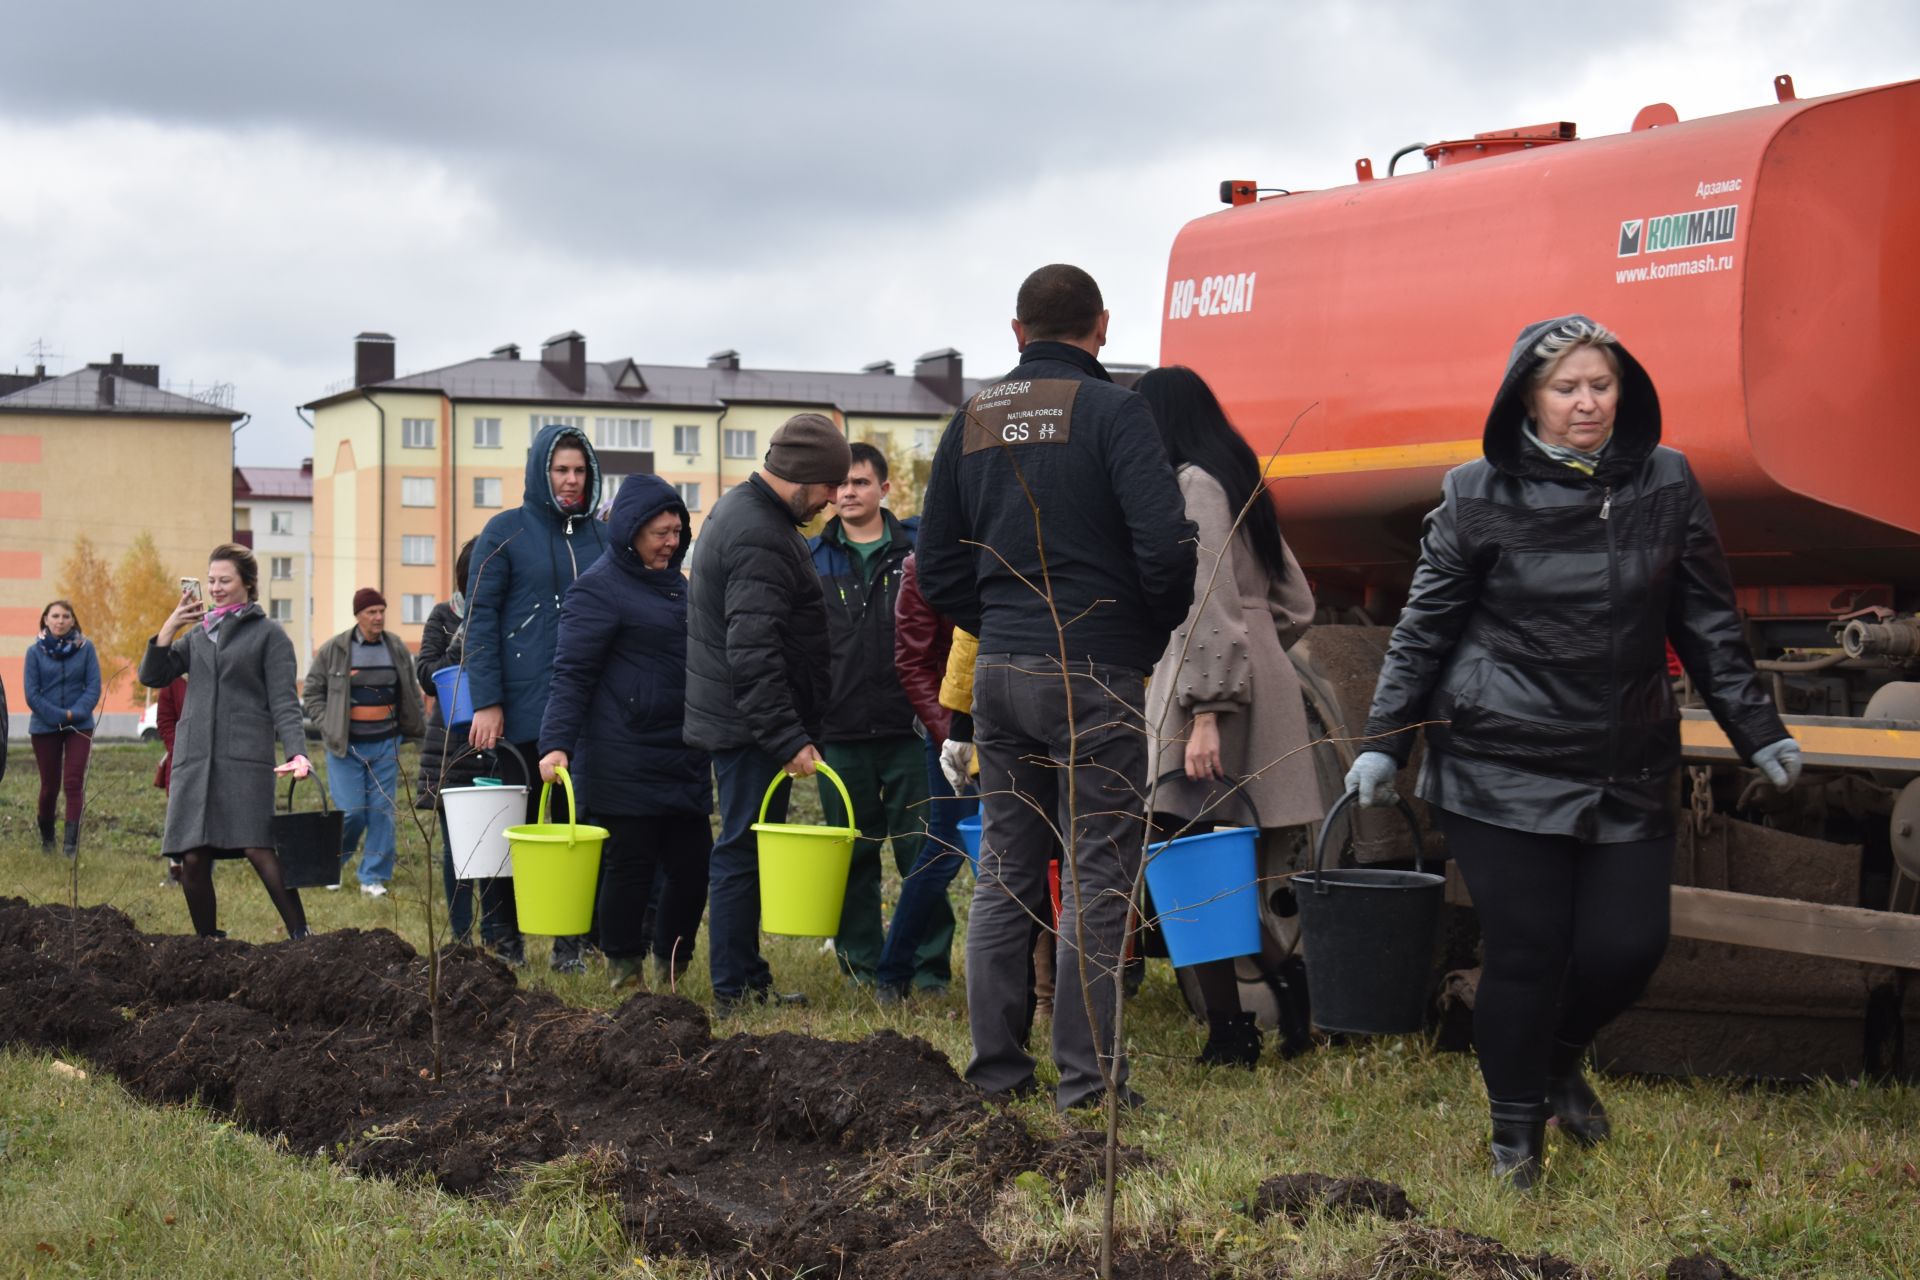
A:
<svg viewBox="0 0 1920 1280">
<path fill-rule="evenodd" d="M 693 940 L 707 912 L 707 856 L 714 846 L 707 814 L 599 814 L 593 821 L 611 833 L 601 852 L 601 950 L 611 960 L 632 960 L 651 942 L 655 958 L 672 960 L 680 973 L 693 960 Z M 649 938 L 647 902 L 660 873 L 660 910 Z"/>
</svg>

